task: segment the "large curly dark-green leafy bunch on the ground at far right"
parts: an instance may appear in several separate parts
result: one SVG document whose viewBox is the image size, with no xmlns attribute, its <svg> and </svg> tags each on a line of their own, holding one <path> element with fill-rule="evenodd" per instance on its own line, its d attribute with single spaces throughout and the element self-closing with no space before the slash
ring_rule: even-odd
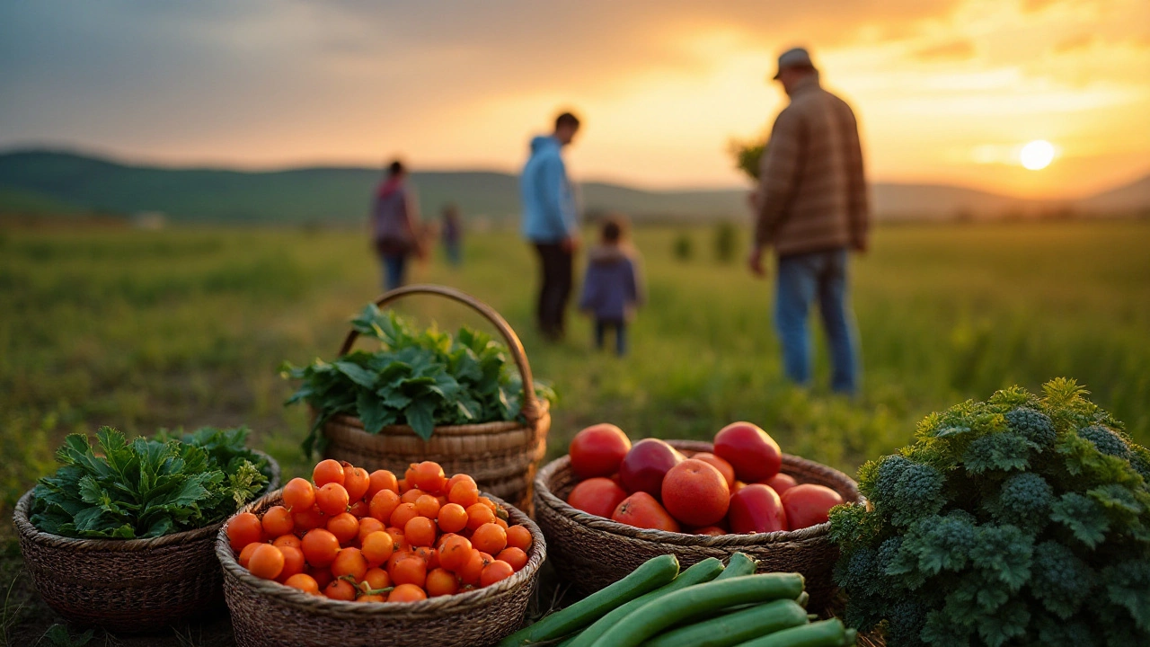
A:
<svg viewBox="0 0 1150 647">
<path fill-rule="evenodd" d="M 1073 380 L 933 413 L 830 513 L 846 622 L 912 645 L 1150 645 L 1150 451 Z"/>
</svg>

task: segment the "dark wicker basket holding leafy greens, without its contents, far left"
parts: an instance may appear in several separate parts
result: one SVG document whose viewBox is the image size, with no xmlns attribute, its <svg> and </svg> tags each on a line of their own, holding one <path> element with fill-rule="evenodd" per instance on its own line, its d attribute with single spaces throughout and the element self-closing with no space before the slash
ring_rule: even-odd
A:
<svg viewBox="0 0 1150 647">
<path fill-rule="evenodd" d="M 279 487 L 270 457 L 268 489 Z M 154 539 L 72 539 L 36 530 L 32 492 L 16 504 L 24 565 L 44 601 L 64 619 L 113 632 L 163 629 L 221 607 L 215 557 L 223 524 Z"/>
</svg>

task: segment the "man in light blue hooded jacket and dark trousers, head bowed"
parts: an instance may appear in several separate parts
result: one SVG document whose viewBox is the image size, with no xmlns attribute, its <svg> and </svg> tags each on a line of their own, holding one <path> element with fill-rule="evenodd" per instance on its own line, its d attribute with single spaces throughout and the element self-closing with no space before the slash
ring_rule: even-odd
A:
<svg viewBox="0 0 1150 647">
<path fill-rule="evenodd" d="M 560 153 L 575 138 L 578 125 L 575 115 L 564 113 L 555 119 L 554 132 L 531 139 L 531 157 L 520 178 L 523 237 L 535 245 L 543 274 L 536 315 L 539 332 L 552 341 L 564 336 L 578 248 L 575 198 Z"/>
</svg>

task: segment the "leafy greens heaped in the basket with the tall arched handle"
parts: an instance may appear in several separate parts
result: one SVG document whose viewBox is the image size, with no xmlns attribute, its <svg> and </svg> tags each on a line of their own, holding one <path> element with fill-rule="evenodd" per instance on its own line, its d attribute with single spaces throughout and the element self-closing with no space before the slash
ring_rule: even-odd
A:
<svg viewBox="0 0 1150 647">
<path fill-rule="evenodd" d="M 515 420 L 522 380 L 507 347 L 489 335 L 462 327 L 452 336 L 435 328 L 416 330 L 393 312 L 368 305 L 352 320 L 379 350 L 352 351 L 334 363 L 316 359 L 308 366 L 284 364 L 284 378 L 302 380 L 288 401 L 310 404 L 317 412 L 304 450 L 322 442 L 320 429 L 332 416 L 355 416 L 368 433 L 386 425 L 409 425 L 427 440 L 436 425 L 469 425 Z M 553 399 L 547 387 L 536 395 Z"/>
</svg>

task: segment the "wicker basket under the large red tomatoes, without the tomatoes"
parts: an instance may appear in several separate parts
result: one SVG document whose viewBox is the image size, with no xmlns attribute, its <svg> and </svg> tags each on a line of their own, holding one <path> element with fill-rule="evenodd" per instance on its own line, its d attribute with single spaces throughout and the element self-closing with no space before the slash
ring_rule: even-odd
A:
<svg viewBox="0 0 1150 647">
<path fill-rule="evenodd" d="M 713 448 L 708 442 L 669 442 L 687 455 Z M 826 465 L 783 455 L 782 471 L 799 482 L 827 486 L 845 501 L 862 501 L 850 477 Z M 568 505 L 567 495 L 576 482 L 569 457 L 544 466 L 535 479 L 535 518 L 547 538 L 559 574 L 583 593 L 621 579 L 657 555 L 674 553 L 687 566 L 706 557 L 726 560 L 741 550 L 759 561 L 761 572 L 803 573 L 812 609 L 822 609 L 834 596 L 831 569 L 838 549 L 827 536 L 829 523 L 790 532 L 721 536 L 637 528 Z"/>
</svg>

